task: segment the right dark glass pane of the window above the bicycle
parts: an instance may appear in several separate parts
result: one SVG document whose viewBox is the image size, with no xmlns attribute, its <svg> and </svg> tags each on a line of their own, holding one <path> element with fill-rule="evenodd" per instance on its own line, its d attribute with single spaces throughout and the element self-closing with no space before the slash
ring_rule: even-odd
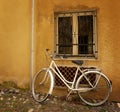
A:
<svg viewBox="0 0 120 112">
<path fill-rule="evenodd" d="M 78 16 L 78 53 L 93 54 L 93 16 Z"/>
</svg>

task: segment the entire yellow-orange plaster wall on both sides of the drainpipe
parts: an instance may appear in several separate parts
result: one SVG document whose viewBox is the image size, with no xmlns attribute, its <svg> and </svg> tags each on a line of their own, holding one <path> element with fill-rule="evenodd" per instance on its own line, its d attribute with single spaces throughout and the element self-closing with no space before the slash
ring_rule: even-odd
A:
<svg viewBox="0 0 120 112">
<path fill-rule="evenodd" d="M 118 0 L 35 0 L 35 72 L 46 66 L 45 49 L 54 47 L 54 12 L 84 9 L 98 11 L 98 59 L 87 63 L 112 80 L 111 99 L 120 100 Z M 29 83 L 30 37 L 31 0 L 0 0 L 0 82 Z"/>
</svg>

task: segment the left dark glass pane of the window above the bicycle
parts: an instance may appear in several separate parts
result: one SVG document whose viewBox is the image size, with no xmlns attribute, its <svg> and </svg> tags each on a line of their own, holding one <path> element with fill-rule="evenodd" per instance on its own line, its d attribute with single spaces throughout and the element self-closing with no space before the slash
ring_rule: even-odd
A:
<svg viewBox="0 0 120 112">
<path fill-rule="evenodd" d="M 72 54 L 72 18 L 58 18 L 58 53 Z"/>
</svg>

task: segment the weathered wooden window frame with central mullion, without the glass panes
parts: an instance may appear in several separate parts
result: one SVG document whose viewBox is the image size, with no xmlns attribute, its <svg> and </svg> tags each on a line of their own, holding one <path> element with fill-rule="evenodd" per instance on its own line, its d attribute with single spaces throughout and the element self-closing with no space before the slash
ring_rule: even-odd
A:
<svg viewBox="0 0 120 112">
<path fill-rule="evenodd" d="M 92 15 L 93 16 L 93 54 L 90 56 L 89 54 L 78 54 L 78 35 L 74 35 L 74 33 L 78 33 L 78 16 Z M 73 52 L 70 56 L 69 54 L 59 54 L 59 46 L 58 43 L 58 18 L 59 17 L 72 17 L 73 27 L 72 27 L 72 39 L 73 39 Z M 56 58 L 61 56 L 66 56 L 67 59 L 97 59 L 98 58 L 98 36 L 97 36 L 97 10 L 85 10 L 85 11 L 73 11 L 73 12 L 55 12 L 54 13 L 54 51 L 56 52 Z"/>
</svg>

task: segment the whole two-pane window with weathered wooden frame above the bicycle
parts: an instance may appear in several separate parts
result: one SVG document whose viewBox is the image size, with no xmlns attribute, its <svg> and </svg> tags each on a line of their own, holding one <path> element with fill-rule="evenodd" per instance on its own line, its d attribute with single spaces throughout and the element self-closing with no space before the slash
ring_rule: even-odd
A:
<svg viewBox="0 0 120 112">
<path fill-rule="evenodd" d="M 55 13 L 58 56 L 97 57 L 96 11 Z"/>
</svg>

